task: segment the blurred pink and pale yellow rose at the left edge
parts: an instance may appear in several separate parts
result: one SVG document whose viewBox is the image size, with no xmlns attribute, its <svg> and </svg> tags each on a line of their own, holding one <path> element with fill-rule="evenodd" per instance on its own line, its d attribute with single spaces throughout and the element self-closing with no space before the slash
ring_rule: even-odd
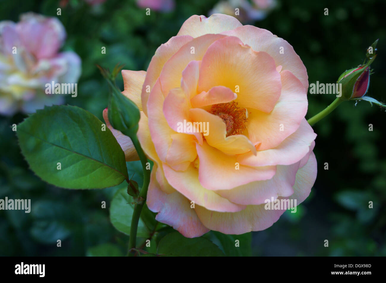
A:
<svg viewBox="0 0 386 283">
<path fill-rule="evenodd" d="M 63 103 L 61 95 L 47 95 L 45 85 L 78 81 L 79 56 L 58 53 L 65 37 L 56 18 L 27 13 L 18 23 L 0 22 L 0 114 Z"/>
</svg>

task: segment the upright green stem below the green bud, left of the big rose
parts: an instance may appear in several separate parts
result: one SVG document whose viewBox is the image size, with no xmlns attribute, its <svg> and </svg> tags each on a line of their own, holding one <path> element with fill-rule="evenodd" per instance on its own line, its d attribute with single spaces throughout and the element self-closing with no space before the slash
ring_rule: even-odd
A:
<svg viewBox="0 0 386 283">
<path fill-rule="evenodd" d="M 149 187 L 149 182 L 150 182 L 150 170 L 146 169 L 146 163 L 148 161 L 144 151 L 142 150 L 141 145 L 139 144 L 137 136 L 130 137 L 130 138 L 134 144 L 135 150 L 139 155 L 139 159 L 141 159 L 142 168 L 144 171 L 144 183 L 142 185 L 142 189 L 139 192 L 139 197 L 138 197 L 139 199 L 142 198 L 142 202 L 136 203 L 134 206 L 134 213 L 131 219 L 131 227 L 130 227 L 129 252 L 127 255 L 134 256 L 135 252 L 130 252 L 130 249 L 135 248 L 137 244 L 136 240 L 137 240 L 138 222 L 139 222 L 139 217 L 141 216 L 142 207 L 146 202 L 147 188 Z"/>
</svg>

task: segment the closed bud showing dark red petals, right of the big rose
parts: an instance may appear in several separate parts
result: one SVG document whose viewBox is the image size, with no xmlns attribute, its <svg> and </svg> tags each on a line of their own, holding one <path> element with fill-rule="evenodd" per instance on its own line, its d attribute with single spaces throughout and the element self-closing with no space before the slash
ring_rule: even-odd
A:
<svg viewBox="0 0 386 283">
<path fill-rule="evenodd" d="M 342 83 L 342 96 L 344 98 L 362 97 L 369 89 L 370 69 L 366 66 L 360 66 L 347 70 L 340 75 L 338 83 Z"/>
</svg>

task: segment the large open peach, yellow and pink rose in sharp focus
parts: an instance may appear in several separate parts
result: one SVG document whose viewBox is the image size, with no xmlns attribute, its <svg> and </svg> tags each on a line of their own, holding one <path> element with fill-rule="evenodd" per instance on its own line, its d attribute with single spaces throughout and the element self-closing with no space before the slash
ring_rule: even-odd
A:
<svg viewBox="0 0 386 283">
<path fill-rule="evenodd" d="M 234 17 L 194 15 L 147 72 L 122 76 L 154 161 L 147 205 L 158 221 L 186 237 L 242 234 L 283 214 L 265 209 L 266 200 L 299 204 L 309 195 L 316 134 L 304 118 L 306 68 L 288 42 Z M 103 116 L 109 126 L 107 109 Z M 178 132 L 184 120 L 208 122 L 208 135 Z M 112 131 L 127 160 L 136 159 L 130 139 Z"/>
</svg>

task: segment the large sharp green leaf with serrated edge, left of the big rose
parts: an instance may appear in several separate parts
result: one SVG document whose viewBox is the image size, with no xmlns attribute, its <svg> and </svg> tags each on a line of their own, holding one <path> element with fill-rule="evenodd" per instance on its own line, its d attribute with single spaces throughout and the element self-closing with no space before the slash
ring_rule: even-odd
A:
<svg viewBox="0 0 386 283">
<path fill-rule="evenodd" d="M 124 152 L 102 124 L 79 107 L 55 105 L 25 119 L 17 136 L 30 168 L 42 180 L 69 189 L 107 188 L 129 176 Z"/>
</svg>

